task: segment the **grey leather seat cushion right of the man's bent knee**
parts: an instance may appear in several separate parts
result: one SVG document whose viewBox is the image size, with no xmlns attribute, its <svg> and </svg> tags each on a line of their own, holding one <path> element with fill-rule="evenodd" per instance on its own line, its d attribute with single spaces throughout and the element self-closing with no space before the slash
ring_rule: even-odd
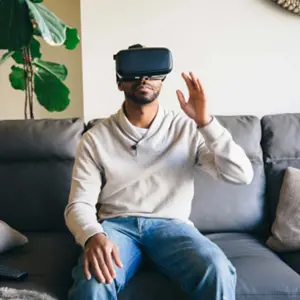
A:
<svg viewBox="0 0 300 300">
<path fill-rule="evenodd" d="M 208 237 L 236 267 L 238 300 L 300 299 L 299 275 L 265 246 L 265 240 L 242 233 Z"/>
</svg>

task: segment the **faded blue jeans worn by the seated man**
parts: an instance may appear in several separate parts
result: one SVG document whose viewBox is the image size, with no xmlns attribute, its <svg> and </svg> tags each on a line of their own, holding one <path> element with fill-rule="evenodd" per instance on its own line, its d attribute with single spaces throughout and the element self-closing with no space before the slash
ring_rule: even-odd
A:
<svg viewBox="0 0 300 300">
<path fill-rule="evenodd" d="M 102 223 L 120 250 L 123 268 L 112 284 L 87 280 L 83 255 L 73 270 L 70 300 L 116 300 L 142 263 L 142 251 L 156 269 L 177 282 L 190 300 L 234 300 L 236 271 L 222 250 L 192 225 L 177 220 L 115 218 Z"/>
</svg>

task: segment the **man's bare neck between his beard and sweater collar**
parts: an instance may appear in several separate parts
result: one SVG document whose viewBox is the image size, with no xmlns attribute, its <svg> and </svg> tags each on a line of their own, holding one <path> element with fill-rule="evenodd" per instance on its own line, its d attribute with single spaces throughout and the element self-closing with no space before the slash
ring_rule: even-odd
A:
<svg viewBox="0 0 300 300">
<path fill-rule="evenodd" d="M 137 105 L 130 100 L 124 102 L 124 112 L 129 122 L 137 127 L 149 128 L 158 111 L 158 100 Z"/>
</svg>

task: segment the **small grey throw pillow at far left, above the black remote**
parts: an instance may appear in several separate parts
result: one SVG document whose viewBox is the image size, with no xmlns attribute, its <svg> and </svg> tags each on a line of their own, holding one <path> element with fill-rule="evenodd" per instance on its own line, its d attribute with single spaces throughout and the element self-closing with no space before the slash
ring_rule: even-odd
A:
<svg viewBox="0 0 300 300">
<path fill-rule="evenodd" d="M 0 253 L 28 243 L 26 236 L 0 220 Z"/>
</svg>

